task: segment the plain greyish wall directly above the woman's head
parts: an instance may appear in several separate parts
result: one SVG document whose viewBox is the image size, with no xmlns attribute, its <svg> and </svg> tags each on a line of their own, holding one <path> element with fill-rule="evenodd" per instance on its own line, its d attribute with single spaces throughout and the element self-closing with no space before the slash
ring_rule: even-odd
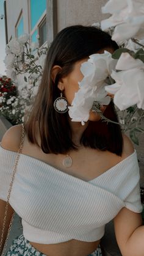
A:
<svg viewBox="0 0 144 256">
<path fill-rule="evenodd" d="M 107 0 L 57 0 L 57 30 L 73 24 L 92 25 L 107 15 L 101 7 Z"/>
</svg>

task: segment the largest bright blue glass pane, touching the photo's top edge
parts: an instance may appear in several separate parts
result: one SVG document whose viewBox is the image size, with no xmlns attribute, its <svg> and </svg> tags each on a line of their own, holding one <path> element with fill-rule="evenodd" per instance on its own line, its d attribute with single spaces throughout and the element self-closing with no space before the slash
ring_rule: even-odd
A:
<svg viewBox="0 0 144 256">
<path fill-rule="evenodd" d="M 46 10 L 46 0 L 31 0 L 31 30 Z"/>
</svg>

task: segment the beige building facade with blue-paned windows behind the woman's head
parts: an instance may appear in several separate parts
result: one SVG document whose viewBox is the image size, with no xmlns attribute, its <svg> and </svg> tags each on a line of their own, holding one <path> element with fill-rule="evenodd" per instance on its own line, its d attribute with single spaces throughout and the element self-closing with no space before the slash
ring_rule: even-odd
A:
<svg viewBox="0 0 144 256">
<path fill-rule="evenodd" d="M 54 35 L 73 24 L 92 25 L 106 15 L 106 0 L 5 0 L 7 43 L 27 33 L 39 46 L 51 43 Z"/>
</svg>

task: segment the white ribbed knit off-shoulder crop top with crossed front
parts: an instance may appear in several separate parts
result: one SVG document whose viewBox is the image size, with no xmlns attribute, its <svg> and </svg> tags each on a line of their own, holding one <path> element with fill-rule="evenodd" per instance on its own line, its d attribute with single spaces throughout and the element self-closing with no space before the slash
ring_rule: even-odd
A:
<svg viewBox="0 0 144 256">
<path fill-rule="evenodd" d="M 7 200 L 15 152 L 0 147 L 0 198 Z M 135 213 L 140 203 L 136 152 L 99 177 L 83 181 L 38 159 L 20 155 L 10 205 L 22 218 L 24 237 L 52 244 L 96 241 L 121 208 Z"/>
</svg>

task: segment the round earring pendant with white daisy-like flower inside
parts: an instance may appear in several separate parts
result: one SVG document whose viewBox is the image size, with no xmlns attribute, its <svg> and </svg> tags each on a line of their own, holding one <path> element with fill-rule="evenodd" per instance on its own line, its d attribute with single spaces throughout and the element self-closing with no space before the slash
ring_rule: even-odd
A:
<svg viewBox="0 0 144 256">
<path fill-rule="evenodd" d="M 57 112 L 62 114 L 67 112 L 68 111 L 67 99 L 62 96 L 59 98 L 56 98 L 56 100 L 54 101 L 54 108 L 56 109 Z"/>
</svg>

